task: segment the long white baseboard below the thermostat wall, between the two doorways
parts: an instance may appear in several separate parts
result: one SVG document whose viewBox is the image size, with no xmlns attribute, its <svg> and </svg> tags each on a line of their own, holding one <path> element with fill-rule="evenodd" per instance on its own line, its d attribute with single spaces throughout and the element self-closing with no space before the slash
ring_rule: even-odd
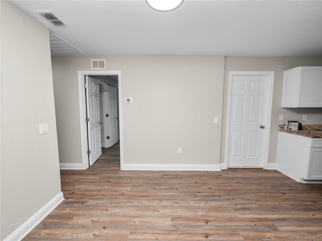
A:
<svg viewBox="0 0 322 241">
<path fill-rule="evenodd" d="M 221 171 L 220 165 L 192 164 L 125 164 L 122 170 L 127 171 Z"/>
</svg>

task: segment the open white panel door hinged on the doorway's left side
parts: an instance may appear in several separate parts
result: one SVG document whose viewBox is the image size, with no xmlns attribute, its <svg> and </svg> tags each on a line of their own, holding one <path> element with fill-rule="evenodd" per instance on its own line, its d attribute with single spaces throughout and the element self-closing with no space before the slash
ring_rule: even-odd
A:
<svg viewBox="0 0 322 241">
<path fill-rule="evenodd" d="M 100 116 L 100 85 L 93 78 L 86 76 L 87 83 L 87 117 L 89 163 L 92 166 L 102 155 L 101 116 Z"/>
</svg>

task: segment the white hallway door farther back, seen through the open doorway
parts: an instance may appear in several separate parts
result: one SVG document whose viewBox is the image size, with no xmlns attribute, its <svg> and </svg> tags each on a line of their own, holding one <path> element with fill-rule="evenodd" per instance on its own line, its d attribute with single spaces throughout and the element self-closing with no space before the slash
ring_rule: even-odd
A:
<svg viewBox="0 0 322 241">
<path fill-rule="evenodd" d="M 108 143 L 109 148 L 119 141 L 117 89 L 107 86 L 108 92 Z"/>
</svg>

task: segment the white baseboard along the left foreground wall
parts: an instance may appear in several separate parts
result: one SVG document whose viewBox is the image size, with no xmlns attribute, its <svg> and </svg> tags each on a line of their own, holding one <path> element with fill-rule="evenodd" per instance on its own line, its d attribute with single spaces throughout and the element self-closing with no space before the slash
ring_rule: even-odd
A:
<svg viewBox="0 0 322 241">
<path fill-rule="evenodd" d="M 10 234 L 4 241 L 18 241 L 23 239 L 35 226 L 38 225 L 52 210 L 64 200 L 63 193 L 60 192 L 50 202 L 43 206 L 16 231 Z"/>
</svg>

